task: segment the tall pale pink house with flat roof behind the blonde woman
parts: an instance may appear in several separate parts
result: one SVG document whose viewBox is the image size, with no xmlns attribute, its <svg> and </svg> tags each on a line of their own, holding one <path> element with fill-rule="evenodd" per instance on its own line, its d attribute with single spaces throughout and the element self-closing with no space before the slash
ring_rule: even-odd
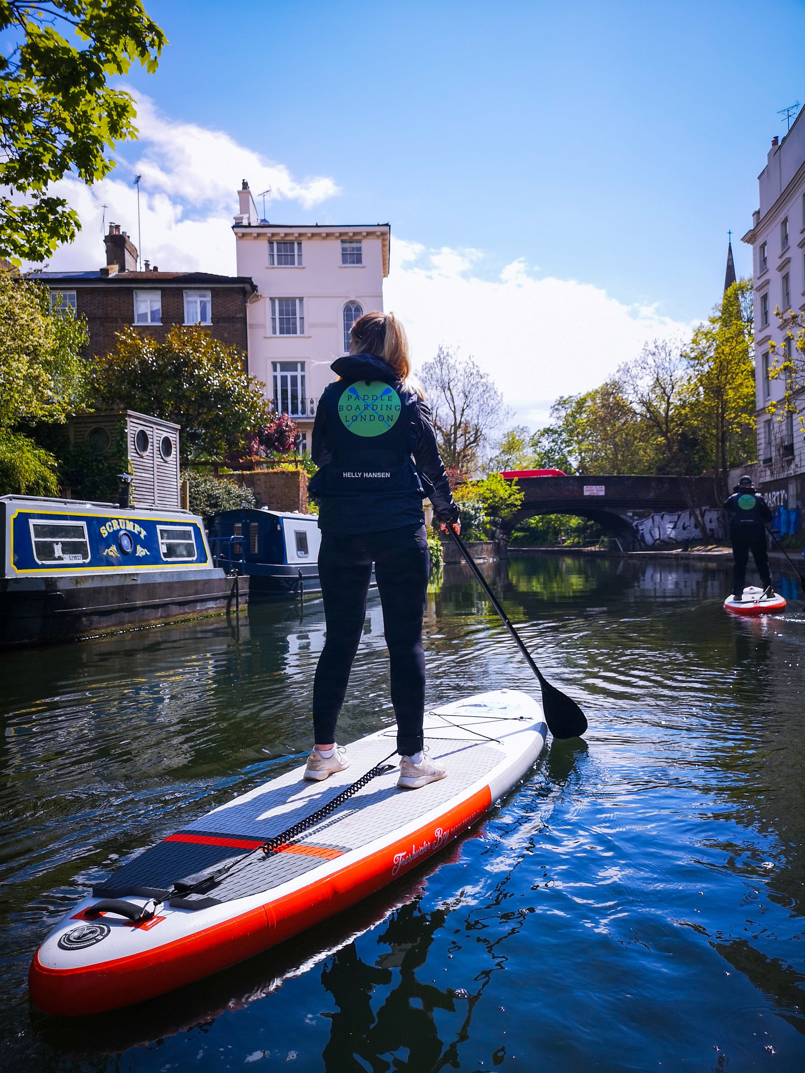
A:
<svg viewBox="0 0 805 1073">
<path fill-rule="evenodd" d="M 308 451 L 319 397 L 336 379 L 331 363 L 349 352 L 356 318 L 383 309 L 391 227 L 268 223 L 246 179 L 238 197 L 237 270 L 258 288 L 247 308 L 249 372 L 297 422 Z"/>
</svg>

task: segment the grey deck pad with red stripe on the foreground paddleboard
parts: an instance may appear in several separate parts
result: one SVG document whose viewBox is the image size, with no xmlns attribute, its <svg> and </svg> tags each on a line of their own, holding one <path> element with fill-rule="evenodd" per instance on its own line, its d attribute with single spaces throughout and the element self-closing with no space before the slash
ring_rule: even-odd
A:
<svg viewBox="0 0 805 1073">
<path fill-rule="evenodd" d="M 398 790 L 399 773 L 395 767 L 372 779 L 332 817 L 305 832 L 286 852 L 269 857 L 253 854 L 248 864 L 236 864 L 216 887 L 190 895 L 188 900 L 213 897 L 230 901 L 270 891 L 320 868 L 341 853 L 357 850 L 449 802 L 492 770 L 504 755 L 495 745 L 478 740 L 428 737 L 427 745 L 430 756 L 443 761 L 448 778 L 420 790 Z M 131 894 L 145 888 L 170 890 L 177 880 L 220 867 L 233 856 L 246 857 L 260 842 L 322 808 L 393 748 L 391 735 L 355 741 L 348 749 L 350 767 L 323 782 L 306 782 L 302 768 L 288 771 L 146 850 L 93 893 L 108 896 L 114 892 L 120 897 L 126 890 Z M 392 758 L 389 763 L 395 760 Z"/>
</svg>

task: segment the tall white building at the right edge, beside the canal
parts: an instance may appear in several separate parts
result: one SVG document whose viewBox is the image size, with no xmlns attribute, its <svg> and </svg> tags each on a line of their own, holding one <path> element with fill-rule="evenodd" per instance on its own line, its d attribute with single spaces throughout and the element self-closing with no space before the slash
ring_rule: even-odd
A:
<svg viewBox="0 0 805 1073">
<path fill-rule="evenodd" d="M 779 483 L 780 502 L 787 500 L 789 506 L 802 500 L 793 477 L 805 473 L 805 442 L 793 415 L 779 422 L 766 408 L 784 395 L 782 381 L 769 379 L 775 361 L 770 343 L 782 342 L 774 311 L 805 310 L 804 116 L 805 108 L 781 141 L 772 138 L 766 166 L 758 176 L 760 208 L 743 238 L 752 247 L 753 260 L 758 477 Z"/>
</svg>

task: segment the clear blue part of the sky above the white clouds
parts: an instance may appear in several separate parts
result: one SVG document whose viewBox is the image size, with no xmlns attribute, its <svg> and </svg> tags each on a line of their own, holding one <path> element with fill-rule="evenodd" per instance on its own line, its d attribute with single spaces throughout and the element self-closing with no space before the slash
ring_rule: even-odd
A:
<svg viewBox="0 0 805 1073">
<path fill-rule="evenodd" d="M 148 11 L 171 46 L 129 80 L 295 175 L 333 176 L 342 194 L 306 220 L 390 220 L 482 249 L 491 271 L 525 258 L 686 321 L 717 297 L 728 229 L 751 223 L 777 109 L 805 99 L 802 3 Z M 735 256 L 748 273 L 741 242 Z"/>
</svg>

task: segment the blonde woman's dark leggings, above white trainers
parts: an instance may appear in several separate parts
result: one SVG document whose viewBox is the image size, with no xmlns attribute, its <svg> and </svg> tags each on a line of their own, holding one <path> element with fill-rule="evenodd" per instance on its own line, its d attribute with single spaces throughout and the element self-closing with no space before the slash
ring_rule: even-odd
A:
<svg viewBox="0 0 805 1073">
<path fill-rule="evenodd" d="M 316 743 L 335 741 L 338 714 L 366 619 L 372 562 L 392 664 L 397 752 L 410 756 L 422 749 L 425 711 L 422 618 L 430 558 L 424 526 L 360 535 L 322 533 L 319 576 L 327 638 L 313 680 Z"/>
</svg>

